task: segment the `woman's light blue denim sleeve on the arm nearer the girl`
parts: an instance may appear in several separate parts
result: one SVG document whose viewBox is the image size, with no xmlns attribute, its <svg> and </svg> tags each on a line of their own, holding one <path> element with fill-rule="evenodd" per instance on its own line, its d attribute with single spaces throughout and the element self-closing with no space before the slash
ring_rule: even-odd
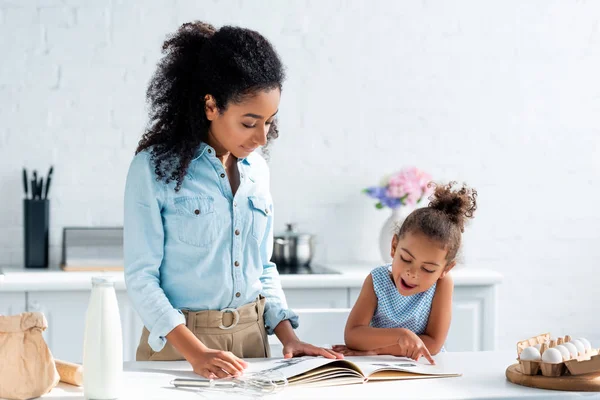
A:
<svg viewBox="0 0 600 400">
<path fill-rule="evenodd" d="M 260 281 L 262 283 L 262 293 L 266 298 L 264 318 L 269 335 L 272 335 L 275 327 L 286 319 L 290 321 L 292 328 L 296 329 L 298 327 L 298 315 L 287 306 L 277 267 L 269 261 L 273 255 L 273 211 L 273 206 L 271 206 L 271 212 L 267 219 L 267 233 L 260 246 L 261 259 L 263 260 L 263 273 Z"/>
</svg>

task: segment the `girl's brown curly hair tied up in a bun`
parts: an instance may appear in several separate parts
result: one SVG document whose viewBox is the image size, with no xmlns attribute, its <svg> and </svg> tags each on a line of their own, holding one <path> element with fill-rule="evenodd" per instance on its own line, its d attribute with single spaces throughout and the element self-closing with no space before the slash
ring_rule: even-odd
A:
<svg viewBox="0 0 600 400">
<path fill-rule="evenodd" d="M 477 210 L 477 191 L 466 185 L 455 189 L 456 182 L 429 185 L 435 188 L 429 206 L 410 213 L 396 234 L 402 237 L 406 232 L 418 232 L 442 243 L 448 249 L 446 260 L 450 262 L 460 248 L 467 219 L 473 218 Z"/>
</svg>

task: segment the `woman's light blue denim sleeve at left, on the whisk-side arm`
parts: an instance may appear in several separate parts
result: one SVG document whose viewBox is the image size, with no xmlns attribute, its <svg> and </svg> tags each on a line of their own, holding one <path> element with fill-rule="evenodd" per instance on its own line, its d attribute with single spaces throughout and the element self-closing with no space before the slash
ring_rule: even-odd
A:
<svg viewBox="0 0 600 400">
<path fill-rule="evenodd" d="M 125 184 L 125 284 L 134 308 L 150 331 L 148 344 L 154 351 L 164 347 L 169 332 L 185 323 L 181 311 L 173 308 L 160 287 L 165 190 L 165 185 L 156 182 L 149 153 L 138 153 L 129 166 Z"/>
</svg>

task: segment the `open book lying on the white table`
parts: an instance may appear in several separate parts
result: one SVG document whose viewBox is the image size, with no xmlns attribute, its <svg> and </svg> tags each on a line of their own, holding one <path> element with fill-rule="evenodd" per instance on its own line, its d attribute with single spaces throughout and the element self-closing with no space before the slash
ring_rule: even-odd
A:
<svg viewBox="0 0 600 400">
<path fill-rule="evenodd" d="M 439 365 L 431 365 L 427 361 L 417 362 L 409 358 L 394 356 L 346 357 L 343 360 L 298 357 L 246 359 L 246 361 L 249 366 L 244 372 L 244 376 L 251 377 L 261 374 L 270 375 L 272 379 L 285 377 L 290 386 L 337 386 L 378 380 L 443 378 L 462 375 Z M 185 379 L 185 382 L 183 381 L 184 379 L 179 382 L 182 386 L 184 383 L 189 386 L 204 386 L 202 379 Z M 193 381 L 198 381 L 198 384 L 194 385 Z"/>
</svg>

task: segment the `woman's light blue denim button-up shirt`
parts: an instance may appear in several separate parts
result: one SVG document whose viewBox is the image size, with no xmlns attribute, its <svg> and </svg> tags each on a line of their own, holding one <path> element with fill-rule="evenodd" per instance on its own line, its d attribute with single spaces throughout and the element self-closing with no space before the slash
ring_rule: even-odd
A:
<svg viewBox="0 0 600 400">
<path fill-rule="evenodd" d="M 262 294 L 269 334 L 287 307 L 273 251 L 269 169 L 253 153 L 238 160 L 240 186 L 233 196 L 223 164 L 202 144 L 179 192 L 157 181 L 150 152 L 138 153 L 125 185 L 125 283 L 133 306 L 160 351 L 165 336 L 185 323 L 182 309 L 237 308 Z"/>
</svg>

